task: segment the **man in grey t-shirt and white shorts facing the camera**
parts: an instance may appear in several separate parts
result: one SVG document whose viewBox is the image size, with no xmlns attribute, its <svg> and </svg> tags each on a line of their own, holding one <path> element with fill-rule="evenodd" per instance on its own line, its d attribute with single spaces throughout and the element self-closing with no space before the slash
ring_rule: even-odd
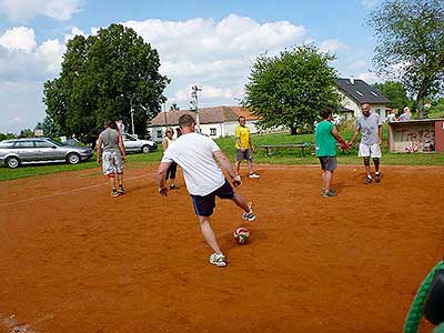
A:
<svg viewBox="0 0 444 333">
<path fill-rule="evenodd" d="M 357 134 L 360 132 L 362 133 L 360 151 L 357 155 L 364 159 L 366 172 L 364 184 L 371 184 L 373 182 L 373 178 L 370 172 L 370 159 L 373 159 L 373 163 L 375 165 L 375 181 L 379 183 L 381 182 L 380 160 L 382 158 L 382 120 L 380 114 L 371 113 L 370 104 L 364 103 L 361 105 L 361 109 L 362 115 L 356 120 L 355 131 L 350 143 L 353 144 Z"/>
</svg>

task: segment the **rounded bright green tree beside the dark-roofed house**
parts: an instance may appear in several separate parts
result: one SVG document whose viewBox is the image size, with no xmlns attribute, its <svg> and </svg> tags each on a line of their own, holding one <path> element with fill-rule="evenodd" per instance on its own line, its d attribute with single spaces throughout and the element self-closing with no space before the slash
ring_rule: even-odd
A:
<svg viewBox="0 0 444 333">
<path fill-rule="evenodd" d="M 337 108 L 334 59 L 314 46 L 285 50 L 276 57 L 260 56 L 253 63 L 242 104 L 261 117 L 263 128 L 285 125 L 312 130 L 323 108 Z"/>
</svg>

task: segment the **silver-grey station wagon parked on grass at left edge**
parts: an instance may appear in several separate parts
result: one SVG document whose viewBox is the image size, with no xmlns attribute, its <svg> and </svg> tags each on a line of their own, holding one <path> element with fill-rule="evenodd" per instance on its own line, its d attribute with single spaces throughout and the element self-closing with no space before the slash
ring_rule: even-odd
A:
<svg viewBox="0 0 444 333">
<path fill-rule="evenodd" d="M 13 139 L 0 142 L 0 165 L 18 168 L 26 163 L 64 161 L 77 164 L 89 160 L 93 151 L 89 147 L 63 145 L 49 138 Z"/>
</svg>

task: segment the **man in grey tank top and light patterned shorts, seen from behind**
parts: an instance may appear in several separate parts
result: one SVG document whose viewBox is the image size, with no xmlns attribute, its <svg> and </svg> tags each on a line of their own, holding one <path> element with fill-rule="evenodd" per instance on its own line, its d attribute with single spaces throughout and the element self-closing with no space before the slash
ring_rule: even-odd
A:
<svg viewBox="0 0 444 333">
<path fill-rule="evenodd" d="M 127 158 L 122 135 L 111 129 L 111 120 L 104 123 L 104 130 L 98 140 L 98 163 L 102 164 L 103 174 L 108 176 L 111 185 L 111 196 L 124 194 L 123 190 L 123 161 Z M 103 151 L 103 153 L 102 153 Z M 115 175 L 119 189 L 115 186 Z"/>
</svg>

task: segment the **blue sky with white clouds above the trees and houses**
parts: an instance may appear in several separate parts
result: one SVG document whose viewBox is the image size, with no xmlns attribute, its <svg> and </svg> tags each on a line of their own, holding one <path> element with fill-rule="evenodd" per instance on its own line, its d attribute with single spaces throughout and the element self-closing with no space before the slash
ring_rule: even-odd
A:
<svg viewBox="0 0 444 333">
<path fill-rule="evenodd" d="M 377 0 L 0 0 L 0 132 L 33 129 L 46 115 L 42 84 L 59 75 L 65 42 L 120 22 L 158 49 L 164 94 L 190 107 L 234 105 L 251 63 L 306 42 L 334 53 L 341 77 L 372 83 L 373 31 L 365 26 Z"/>
</svg>

